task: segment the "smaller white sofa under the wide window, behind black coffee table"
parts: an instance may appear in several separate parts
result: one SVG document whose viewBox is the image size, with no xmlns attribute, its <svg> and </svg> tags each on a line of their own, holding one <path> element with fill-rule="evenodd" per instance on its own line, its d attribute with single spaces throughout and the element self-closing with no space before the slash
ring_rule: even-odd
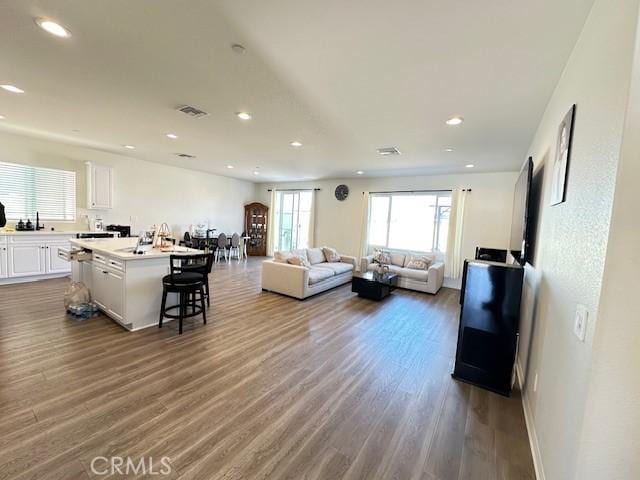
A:
<svg viewBox="0 0 640 480">
<path fill-rule="evenodd" d="M 431 294 L 438 293 L 444 282 L 444 263 L 434 261 L 428 270 L 415 270 L 406 268 L 406 259 L 410 252 L 391 253 L 391 263 L 388 264 L 389 271 L 398 274 L 398 287 L 409 290 L 418 290 Z M 360 261 L 360 271 L 375 270 L 377 264 L 373 262 L 373 255 L 364 257 Z"/>
</svg>

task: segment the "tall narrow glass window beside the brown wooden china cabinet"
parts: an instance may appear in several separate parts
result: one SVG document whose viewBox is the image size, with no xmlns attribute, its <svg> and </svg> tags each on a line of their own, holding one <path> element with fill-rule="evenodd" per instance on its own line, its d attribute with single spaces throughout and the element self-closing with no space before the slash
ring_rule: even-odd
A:
<svg viewBox="0 0 640 480">
<path fill-rule="evenodd" d="M 275 231 L 277 251 L 289 251 L 308 248 L 313 208 L 313 192 L 286 191 L 277 192 Z"/>
</svg>

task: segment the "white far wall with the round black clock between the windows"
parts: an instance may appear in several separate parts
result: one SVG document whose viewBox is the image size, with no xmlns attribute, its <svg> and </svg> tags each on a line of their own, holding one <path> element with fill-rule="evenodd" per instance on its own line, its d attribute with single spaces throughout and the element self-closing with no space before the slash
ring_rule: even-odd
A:
<svg viewBox="0 0 640 480">
<path fill-rule="evenodd" d="M 524 161 L 524 158 L 523 158 Z M 391 190 L 439 190 L 471 188 L 465 209 L 463 254 L 473 258 L 476 246 L 506 248 L 511 224 L 513 190 L 518 174 L 477 173 L 420 177 L 348 178 L 257 184 L 256 197 L 269 205 L 267 189 L 320 188 L 316 205 L 316 244 L 329 245 L 347 255 L 360 249 L 362 192 Z M 345 184 L 350 193 L 343 202 L 336 200 L 336 186 Z M 416 219 L 418 221 L 418 219 Z"/>
</svg>

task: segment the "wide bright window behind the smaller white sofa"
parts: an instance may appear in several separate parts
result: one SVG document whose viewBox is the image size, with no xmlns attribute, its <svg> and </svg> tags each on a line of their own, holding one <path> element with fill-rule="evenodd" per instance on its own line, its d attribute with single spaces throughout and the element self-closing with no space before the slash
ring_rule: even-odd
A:
<svg viewBox="0 0 640 480">
<path fill-rule="evenodd" d="M 385 193 L 369 198 L 369 247 L 445 252 L 451 192 Z"/>
</svg>

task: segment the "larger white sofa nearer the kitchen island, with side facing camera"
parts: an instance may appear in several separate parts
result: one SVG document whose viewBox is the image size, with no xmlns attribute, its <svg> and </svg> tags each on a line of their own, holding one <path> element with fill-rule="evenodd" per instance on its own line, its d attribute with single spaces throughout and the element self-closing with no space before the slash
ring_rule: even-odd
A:
<svg viewBox="0 0 640 480">
<path fill-rule="evenodd" d="M 321 248 L 294 250 L 306 255 L 310 268 L 291 265 L 286 260 L 262 262 L 262 289 L 304 299 L 331 288 L 349 283 L 357 267 L 355 257 L 340 255 L 339 262 L 327 262 Z"/>
</svg>

